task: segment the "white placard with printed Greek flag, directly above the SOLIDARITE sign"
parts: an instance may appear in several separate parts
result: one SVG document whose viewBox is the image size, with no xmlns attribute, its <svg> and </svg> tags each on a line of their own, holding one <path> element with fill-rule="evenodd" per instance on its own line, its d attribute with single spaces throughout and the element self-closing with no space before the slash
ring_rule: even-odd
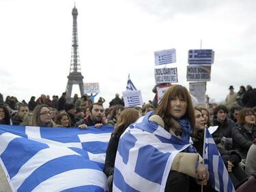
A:
<svg viewBox="0 0 256 192">
<path fill-rule="evenodd" d="M 159 50 L 155 52 L 155 65 L 166 65 L 176 62 L 176 50 Z"/>
</svg>

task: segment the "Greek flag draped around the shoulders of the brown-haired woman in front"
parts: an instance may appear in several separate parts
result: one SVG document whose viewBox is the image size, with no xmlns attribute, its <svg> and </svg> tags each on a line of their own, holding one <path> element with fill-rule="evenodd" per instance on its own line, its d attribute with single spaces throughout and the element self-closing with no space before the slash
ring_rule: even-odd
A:
<svg viewBox="0 0 256 192">
<path fill-rule="evenodd" d="M 165 191 L 175 155 L 190 146 L 150 122 L 151 114 L 130 125 L 119 140 L 113 191 Z"/>
</svg>

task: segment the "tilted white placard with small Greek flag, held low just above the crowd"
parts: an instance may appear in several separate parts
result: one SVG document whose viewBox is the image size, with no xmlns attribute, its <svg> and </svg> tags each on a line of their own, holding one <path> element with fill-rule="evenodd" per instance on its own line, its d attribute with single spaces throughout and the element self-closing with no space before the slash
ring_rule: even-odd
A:
<svg viewBox="0 0 256 192">
<path fill-rule="evenodd" d="M 124 106 L 126 108 L 134 107 L 134 106 L 141 106 L 143 104 L 141 91 L 124 91 L 123 92 L 124 98 Z"/>
</svg>

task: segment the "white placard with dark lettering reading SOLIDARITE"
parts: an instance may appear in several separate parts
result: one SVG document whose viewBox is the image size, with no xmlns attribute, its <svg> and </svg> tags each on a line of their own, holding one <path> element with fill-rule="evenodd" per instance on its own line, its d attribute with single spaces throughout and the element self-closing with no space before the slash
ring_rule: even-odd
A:
<svg viewBox="0 0 256 192">
<path fill-rule="evenodd" d="M 156 84 L 166 82 L 177 82 L 177 67 L 155 69 Z"/>
</svg>

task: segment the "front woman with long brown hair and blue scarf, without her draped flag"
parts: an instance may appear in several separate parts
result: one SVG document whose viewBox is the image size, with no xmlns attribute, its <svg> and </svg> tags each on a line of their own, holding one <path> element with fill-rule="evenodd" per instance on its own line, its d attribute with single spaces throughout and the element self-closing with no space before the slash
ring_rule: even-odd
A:
<svg viewBox="0 0 256 192">
<path fill-rule="evenodd" d="M 186 87 L 178 84 L 172 85 L 158 104 L 155 115 L 150 116 L 149 120 L 189 144 L 190 136 L 193 135 L 195 127 L 195 112 Z M 192 159 L 188 160 L 188 156 L 190 157 L 191 155 L 193 155 Z M 192 151 L 191 148 L 186 148 L 182 153 L 178 153 L 173 160 L 165 191 L 188 191 L 190 180 L 188 175 L 197 177 L 199 184 L 206 185 L 209 172 L 203 164 L 198 162 L 198 159 L 198 153 Z M 193 161 L 195 162 L 192 163 Z M 197 166 L 193 168 L 193 172 L 186 172 L 196 164 Z M 187 166 L 184 169 L 185 172 L 182 172 L 179 166 Z"/>
</svg>

